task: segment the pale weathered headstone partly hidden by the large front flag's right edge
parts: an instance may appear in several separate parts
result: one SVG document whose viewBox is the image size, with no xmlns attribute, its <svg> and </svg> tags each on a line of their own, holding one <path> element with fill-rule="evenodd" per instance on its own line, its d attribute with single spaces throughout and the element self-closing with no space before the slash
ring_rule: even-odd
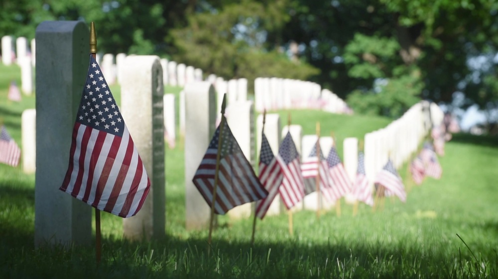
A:
<svg viewBox="0 0 498 279">
<path fill-rule="evenodd" d="M 123 219 L 124 237 L 160 238 L 165 226 L 164 119 L 162 67 L 157 56 L 124 60 L 121 114 L 140 154 L 150 190 L 135 216 Z"/>
</svg>

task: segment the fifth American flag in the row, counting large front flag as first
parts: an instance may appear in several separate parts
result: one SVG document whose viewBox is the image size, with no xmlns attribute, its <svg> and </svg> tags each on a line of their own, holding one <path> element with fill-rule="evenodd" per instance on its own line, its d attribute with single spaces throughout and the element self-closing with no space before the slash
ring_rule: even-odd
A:
<svg viewBox="0 0 498 279">
<path fill-rule="evenodd" d="M 327 165 L 327 160 L 322 153 L 322 148 L 320 149 L 320 161 L 318 161 L 318 156 L 316 152 L 316 147 L 320 146 L 320 141 L 317 140 L 308 157 L 304 158 L 301 164 L 301 174 L 304 179 L 304 193 L 305 195 L 311 194 L 316 190 L 316 177 L 320 172 L 320 191 L 323 196 L 330 202 L 334 202 L 336 199 L 332 191 L 332 181 L 330 179 L 330 174 L 328 172 L 329 167 Z"/>
</svg>

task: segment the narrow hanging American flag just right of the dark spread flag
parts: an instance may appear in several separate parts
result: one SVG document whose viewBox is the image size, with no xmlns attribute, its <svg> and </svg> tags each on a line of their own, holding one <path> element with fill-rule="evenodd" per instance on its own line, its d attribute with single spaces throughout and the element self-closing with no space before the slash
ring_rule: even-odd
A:
<svg viewBox="0 0 498 279">
<path fill-rule="evenodd" d="M 270 144 L 263 132 L 259 154 L 259 181 L 261 181 L 261 184 L 268 191 L 268 196 L 256 205 L 256 216 L 260 219 L 266 215 L 268 208 L 278 194 L 278 188 L 282 184 L 282 167 L 278 163 L 276 156 L 273 155 Z"/>
</svg>

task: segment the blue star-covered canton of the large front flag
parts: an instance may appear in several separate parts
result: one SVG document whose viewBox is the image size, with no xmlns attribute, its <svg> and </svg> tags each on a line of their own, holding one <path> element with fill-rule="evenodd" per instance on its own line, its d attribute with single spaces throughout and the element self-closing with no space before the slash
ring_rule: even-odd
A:
<svg viewBox="0 0 498 279">
<path fill-rule="evenodd" d="M 76 122 L 115 136 L 123 137 L 124 121 L 111 89 L 95 58 L 90 55 L 87 79 Z"/>
</svg>

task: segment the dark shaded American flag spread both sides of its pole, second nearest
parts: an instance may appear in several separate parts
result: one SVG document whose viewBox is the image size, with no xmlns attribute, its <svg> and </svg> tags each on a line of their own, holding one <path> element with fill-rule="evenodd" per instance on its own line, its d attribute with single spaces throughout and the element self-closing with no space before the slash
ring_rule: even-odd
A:
<svg viewBox="0 0 498 279">
<path fill-rule="evenodd" d="M 222 123 L 224 125 L 222 135 L 220 135 L 220 125 L 216 129 L 208 150 L 192 179 L 206 203 L 212 207 L 216 155 L 218 153 L 218 141 L 222 137 L 220 169 L 214 205 L 217 214 L 225 214 L 236 206 L 258 201 L 268 196 L 268 191 L 264 189 L 256 174 L 254 174 L 254 170 L 252 170 L 239 143 L 234 138 L 227 121 L 222 119 Z"/>
</svg>

